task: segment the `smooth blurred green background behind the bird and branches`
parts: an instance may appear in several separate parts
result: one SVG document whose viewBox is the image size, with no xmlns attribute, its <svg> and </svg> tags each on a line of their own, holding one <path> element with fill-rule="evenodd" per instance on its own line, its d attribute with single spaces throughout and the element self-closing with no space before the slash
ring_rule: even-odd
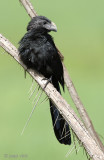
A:
<svg viewBox="0 0 104 160">
<path fill-rule="evenodd" d="M 103 136 L 104 1 L 31 2 L 39 15 L 56 23 L 58 32 L 52 33 L 55 43 L 65 57 L 65 65 L 97 133 Z M 16 47 L 29 20 L 19 0 L 0 0 L 0 32 Z M 25 79 L 22 67 L 0 48 L 0 160 L 64 160 L 73 146 L 61 145 L 56 140 L 48 101 L 37 106 L 24 134 L 20 135 L 33 107 L 28 98 L 31 84 L 32 78 L 27 75 Z M 67 89 L 63 96 L 75 110 Z M 10 155 L 24 155 L 24 158 L 10 158 Z M 73 152 L 67 159 L 87 158 L 80 149 L 78 155 Z"/>
</svg>

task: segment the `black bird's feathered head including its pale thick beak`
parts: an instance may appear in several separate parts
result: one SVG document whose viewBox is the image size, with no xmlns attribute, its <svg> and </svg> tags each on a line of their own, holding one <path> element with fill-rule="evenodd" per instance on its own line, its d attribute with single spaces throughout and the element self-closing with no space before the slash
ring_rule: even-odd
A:
<svg viewBox="0 0 104 160">
<path fill-rule="evenodd" d="M 27 31 L 32 29 L 43 29 L 46 32 L 57 31 L 56 25 L 44 16 L 36 16 L 32 18 L 27 26 Z"/>
</svg>

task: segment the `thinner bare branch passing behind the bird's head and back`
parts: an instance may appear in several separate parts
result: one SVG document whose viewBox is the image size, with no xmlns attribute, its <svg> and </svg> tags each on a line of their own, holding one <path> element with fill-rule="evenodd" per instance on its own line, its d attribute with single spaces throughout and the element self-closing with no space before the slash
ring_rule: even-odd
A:
<svg viewBox="0 0 104 160">
<path fill-rule="evenodd" d="M 33 11 L 33 7 L 32 7 L 32 4 L 30 3 L 29 0 L 20 0 L 20 2 L 23 4 L 24 8 L 26 9 L 28 15 L 33 18 L 35 17 L 37 14 L 35 11 Z M 63 60 L 64 57 L 63 55 L 60 53 L 60 51 L 58 50 L 58 53 L 61 57 L 61 59 Z M 63 64 L 64 66 L 64 64 Z M 64 66 L 64 79 L 65 79 L 65 83 L 66 83 L 66 86 L 68 88 L 68 91 L 70 93 L 70 96 L 79 112 L 79 115 L 81 117 L 81 119 L 83 120 L 84 122 L 84 125 L 85 127 L 87 128 L 87 130 L 89 131 L 90 135 L 92 136 L 92 138 L 96 141 L 96 143 L 99 145 L 99 147 L 101 148 L 101 150 L 104 152 L 104 146 L 102 144 L 102 142 L 100 141 L 95 129 L 94 129 L 94 126 L 85 110 L 85 107 L 83 106 L 79 96 L 78 96 L 78 93 L 74 87 L 74 84 L 72 83 L 72 80 L 68 74 L 68 71 L 67 69 L 65 68 Z"/>
</svg>

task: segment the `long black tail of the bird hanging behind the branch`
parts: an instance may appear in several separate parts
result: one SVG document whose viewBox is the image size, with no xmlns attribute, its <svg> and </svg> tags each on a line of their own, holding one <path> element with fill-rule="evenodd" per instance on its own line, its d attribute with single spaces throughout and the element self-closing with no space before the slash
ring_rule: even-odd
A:
<svg viewBox="0 0 104 160">
<path fill-rule="evenodd" d="M 52 84 L 58 90 L 58 92 L 60 92 L 59 83 L 56 79 L 52 78 Z M 51 101 L 50 101 L 50 111 L 52 116 L 54 133 L 56 135 L 57 140 L 62 144 L 70 145 L 71 134 L 69 125 Z"/>
</svg>

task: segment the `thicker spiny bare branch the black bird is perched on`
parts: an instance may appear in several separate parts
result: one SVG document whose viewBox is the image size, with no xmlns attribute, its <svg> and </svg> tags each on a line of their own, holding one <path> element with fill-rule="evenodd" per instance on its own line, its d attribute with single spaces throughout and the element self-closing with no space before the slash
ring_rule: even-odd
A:
<svg viewBox="0 0 104 160">
<path fill-rule="evenodd" d="M 13 46 L 5 37 L 0 34 L 0 46 L 4 48 L 23 68 L 25 65 L 20 61 L 18 51 L 15 46 Z M 33 79 L 41 86 L 43 89 L 46 81 L 43 81 L 43 76 L 39 76 L 36 72 L 28 70 L 28 73 L 33 77 Z M 63 99 L 63 97 L 57 92 L 52 84 L 48 84 L 45 88 L 45 93 L 55 104 L 59 112 L 69 123 L 86 151 L 93 160 L 104 160 L 104 154 L 99 149 L 96 142 L 89 135 L 88 131 L 83 126 L 80 119 L 71 109 L 70 105 Z"/>
</svg>

